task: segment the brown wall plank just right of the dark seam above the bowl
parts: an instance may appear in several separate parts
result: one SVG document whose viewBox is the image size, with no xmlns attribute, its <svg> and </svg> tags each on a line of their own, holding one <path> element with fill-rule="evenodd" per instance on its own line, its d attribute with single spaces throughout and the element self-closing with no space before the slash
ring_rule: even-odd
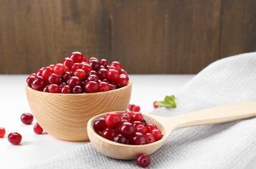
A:
<svg viewBox="0 0 256 169">
<path fill-rule="evenodd" d="M 164 72 L 164 1 L 113 0 L 111 59 L 128 73 Z"/>
</svg>

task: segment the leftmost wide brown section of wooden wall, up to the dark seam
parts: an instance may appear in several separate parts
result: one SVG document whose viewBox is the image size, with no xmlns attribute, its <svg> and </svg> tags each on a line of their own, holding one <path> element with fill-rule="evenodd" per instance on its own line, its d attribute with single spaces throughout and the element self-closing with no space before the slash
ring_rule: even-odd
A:
<svg viewBox="0 0 256 169">
<path fill-rule="evenodd" d="M 72 51 L 109 55 L 105 1 L 0 1 L 0 73 L 32 73 Z"/>
</svg>

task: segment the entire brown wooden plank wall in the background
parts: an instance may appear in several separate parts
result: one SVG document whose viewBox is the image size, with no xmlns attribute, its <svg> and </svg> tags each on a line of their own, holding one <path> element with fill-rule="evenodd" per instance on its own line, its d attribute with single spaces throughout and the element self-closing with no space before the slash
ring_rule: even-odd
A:
<svg viewBox="0 0 256 169">
<path fill-rule="evenodd" d="M 255 0 L 0 0 L 0 73 L 32 73 L 72 51 L 128 73 L 197 73 L 256 51 Z"/>
</svg>

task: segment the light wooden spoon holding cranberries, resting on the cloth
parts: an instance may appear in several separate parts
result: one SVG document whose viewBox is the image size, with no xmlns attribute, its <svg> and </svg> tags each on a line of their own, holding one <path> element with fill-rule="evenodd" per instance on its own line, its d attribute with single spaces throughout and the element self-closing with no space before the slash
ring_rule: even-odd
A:
<svg viewBox="0 0 256 169">
<path fill-rule="evenodd" d="M 108 112 L 107 112 L 108 113 Z M 87 124 L 87 133 L 91 140 L 92 146 L 98 151 L 108 157 L 115 159 L 135 159 L 139 153 L 151 154 L 159 149 L 171 134 L 172 131 L 183 127 L 190 127 L 194 125 L 210 125 L 216 123 L 231 122 L 245 118 L 256 116 L 256 101 L 239 103 L 236 105 L 226 105 L 222 107 L 214 107 L 211 109 L 204 109 L 180 116 L 162 117 L 151 114 L 143 114 L 147 123 L 155 123 L 158 129 L 162 131 L 163 138 L 151 144 L 144 144 L 141 146 L 119 144 L 94 132 L 93 122 L 100 116 L 106 116 L 107 113 L 100 114 L 91 118 Z M 122 113 L 122 112 L 118 112 Z"/>
</svg>

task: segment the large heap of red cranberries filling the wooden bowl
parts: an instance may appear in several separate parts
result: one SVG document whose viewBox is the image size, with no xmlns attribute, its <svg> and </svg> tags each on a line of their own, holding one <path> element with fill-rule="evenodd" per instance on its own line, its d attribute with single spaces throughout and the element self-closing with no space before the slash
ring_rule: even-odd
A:
<svg viewBox="0 0 256 169">
<path fill-rule="evenodd" d="M 31 88 L 50 93 L 81 94 L 105 92 L 128 85 L 129 77 L 119 62 L 73 52 L 61 63 L 40 68 L 27 78 Z"/>
</svg>

